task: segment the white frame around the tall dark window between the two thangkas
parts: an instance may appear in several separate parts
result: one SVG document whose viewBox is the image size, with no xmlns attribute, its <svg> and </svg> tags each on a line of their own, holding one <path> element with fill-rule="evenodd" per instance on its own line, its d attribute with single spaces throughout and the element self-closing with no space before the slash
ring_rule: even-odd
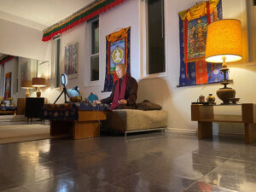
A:
<svg viewBox="0 0 256 192">
<path fill-rule="evenodd" d="M 167 30 L 166 30 L 166 23 L 168 22 L 167 20 L 167 2 L 166 0 L 164 1 L 164 33 L 165 33 L 165 64 L 166 64 L 166 71 L 162 73 L 153 73 L 153 74 L 148 74 L 148 1 L 141 1 L 141 52 L 143 55 L 141 58 L 141 74 L 140 74 L 140 79 L 155 79 L 155 78 L 164 78 L 167 76 L 168 73 L 168 56 L 167 56 L 167 44 L 166 44 L 166 37 L 167 37 Z"/>
</svg>

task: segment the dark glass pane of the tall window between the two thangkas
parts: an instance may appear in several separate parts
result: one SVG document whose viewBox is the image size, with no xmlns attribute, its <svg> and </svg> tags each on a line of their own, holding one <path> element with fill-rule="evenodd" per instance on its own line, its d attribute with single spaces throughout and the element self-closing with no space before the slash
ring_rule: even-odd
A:
<svg viewBox="0 0 256 192">
<path fill-rule="evenodd" d="M 148 74 L 165 71 L 164 0 L 148 0 Z"/>
</svg>

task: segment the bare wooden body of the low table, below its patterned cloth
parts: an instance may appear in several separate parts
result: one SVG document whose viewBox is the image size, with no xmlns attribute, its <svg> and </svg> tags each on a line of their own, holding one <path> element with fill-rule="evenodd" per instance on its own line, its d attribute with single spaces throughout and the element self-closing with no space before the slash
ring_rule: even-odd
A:
<svg viewBox="0 0 256 192">
<path fill-rule="evenodd" d="M 100 120 L 107 119 L 104 111 L 79 110 L 79 119 L 73 121 L 50 120 L 50 135 L 72 134 L 73 139 L 100 136 Z"/>
</svg>

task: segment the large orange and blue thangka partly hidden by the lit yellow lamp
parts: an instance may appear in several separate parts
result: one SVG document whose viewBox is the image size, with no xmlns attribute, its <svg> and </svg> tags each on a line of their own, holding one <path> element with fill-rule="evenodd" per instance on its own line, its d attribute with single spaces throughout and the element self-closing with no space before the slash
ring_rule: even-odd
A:
<svg viewBox="0 0 256 192">
<path fill-rule="evenodd" d="M 207 63 L 207 26 L 222 19 L 221 0 L 197 3 L 179 15 L 180 77 L 178 86 L 220 82 L 221 63 Z"/>
</svg>

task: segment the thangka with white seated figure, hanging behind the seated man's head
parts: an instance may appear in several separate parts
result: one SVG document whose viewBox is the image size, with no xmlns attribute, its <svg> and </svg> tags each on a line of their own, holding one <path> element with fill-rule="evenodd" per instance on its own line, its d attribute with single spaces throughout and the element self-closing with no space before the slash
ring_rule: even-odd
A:
<svg viewBox="0 0 256 192">
<path fill-rule="evenodd" d="M 129 26 L 106 36 L 106 75 L 103 92 L 111 91 L 114 82 L 119 79 L 115 73 L 116 65 L 125 64 L 127 74 L 131 75 L 130 34 Z"/>
</svg>

